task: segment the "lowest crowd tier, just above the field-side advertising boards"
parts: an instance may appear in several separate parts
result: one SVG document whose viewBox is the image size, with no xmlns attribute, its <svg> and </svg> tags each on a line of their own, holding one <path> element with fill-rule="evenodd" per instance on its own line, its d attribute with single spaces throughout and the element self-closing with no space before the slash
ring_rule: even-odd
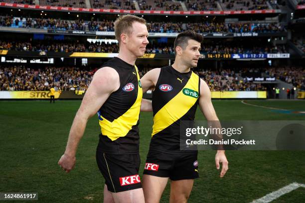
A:
<svg viewBox="0 0 305 203">
<path fill-rule="evenodd" d="M 89 87 L 92 76 L 97 69 L 82 69 L 76 67 L 46 67 L 45 69 L 30 69 L 24 66 L 0 67 L 0 91 L 47 91 L 56 87 L 62 91 L 85 91 Z M 151 68 L 140 68 L 140 77 Z M 277 67 L 265 69 L 240 69 L 235 72 L 230 69 L 196 70 L 210 87 L 211 91 L 265 91 L 260 83 L 245 81 L 243 72 L 265 73 L 276 77 L 294 87 L 305 90 L 305 69 L 302 67 Z"/>
</svg>

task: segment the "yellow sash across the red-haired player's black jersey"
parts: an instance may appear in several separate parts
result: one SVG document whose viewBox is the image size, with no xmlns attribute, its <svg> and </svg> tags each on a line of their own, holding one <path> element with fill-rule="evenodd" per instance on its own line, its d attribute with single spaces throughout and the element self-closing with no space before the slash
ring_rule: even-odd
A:
<svg viewBox="0 0 305 203">
<path fill-rule="evenodd" d="M 135 66 L 136 67 L 136 66 Z M 110 122 L 102 115 L 103 120 L 99 120 L 101 126 L 101 132 L 106 135 L 112 141 L 119 137 L 124 137 L 137 124 L 140 115 L 140 107 L 142 101 L 142 88 L 139 86 L 140 76 L 138 68 L 136 67 L 137 78 L 138 78 L 138 96 L 136 102 L 120 117 Z"/>
</svg>

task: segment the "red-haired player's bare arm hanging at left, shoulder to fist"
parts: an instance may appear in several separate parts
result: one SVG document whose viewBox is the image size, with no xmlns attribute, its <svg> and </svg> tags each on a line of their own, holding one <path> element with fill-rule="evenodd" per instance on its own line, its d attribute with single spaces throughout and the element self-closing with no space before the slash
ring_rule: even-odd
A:
<svg viewBox="0 0 305 203">
<path fill-rule="evenodd" d="M 119 74 L 113 68 L 104 67 L 94 74 L 92 82 L 74 117 L 65 153 L 58 161 L 58 165 L 67 173 L 75 166 L 77 146 L 84 134 L 88 119 L 97 113 L 110 94 L 118 90 L 119 87 Z"/>
</svg>

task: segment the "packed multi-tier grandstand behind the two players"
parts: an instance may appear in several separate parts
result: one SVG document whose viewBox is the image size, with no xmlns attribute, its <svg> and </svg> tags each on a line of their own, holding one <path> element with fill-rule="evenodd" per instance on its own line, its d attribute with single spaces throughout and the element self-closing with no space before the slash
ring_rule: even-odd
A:
<svg viewBox="0 0 305 203">
<path fill-rule="evenodd" d="M 14 3 L 27 4 L 26 9 Z M 48 91 L 51 87 L 86 91 L 95 71 L 111 58 L 96 54 L 119 52 L 114 21 L 125 10 L 147 20 L 146 53 L 150 55 L 137 64 L 141 77 L 152 68 L 172 64 L 174 37 L 194 30 L 204 41 L 193 71 L 211 91 L 266 91 L 268 96 L 282 82 L 304 91 L 303 4 L 285 0 L 1 0 L 0 51 L 5 55 L 1 55 L 0 91 Z M 283 14 L 285 9 L 292 12 Z"/>
</svg>

